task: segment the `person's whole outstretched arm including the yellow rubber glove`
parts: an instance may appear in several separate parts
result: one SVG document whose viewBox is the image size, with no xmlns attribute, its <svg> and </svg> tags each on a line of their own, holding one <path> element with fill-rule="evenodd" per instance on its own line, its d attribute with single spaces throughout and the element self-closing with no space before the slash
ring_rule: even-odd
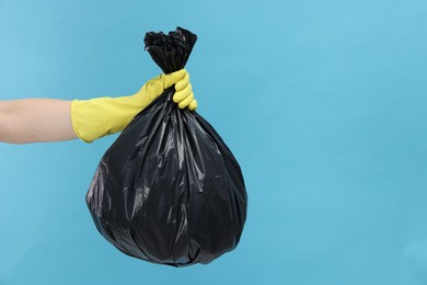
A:
<svg viewBox="0 0 427 285">
<path fill-rule="evenodd" d="M 195 111 L 197 101 L 184 69 L 149 80 L 130 96 L 0 101 L 0 141 L 27 144 L 80 138 L 91 142 L 123 130 L 136 114 L 172 86 L 178 107 Z"/>
</svg>

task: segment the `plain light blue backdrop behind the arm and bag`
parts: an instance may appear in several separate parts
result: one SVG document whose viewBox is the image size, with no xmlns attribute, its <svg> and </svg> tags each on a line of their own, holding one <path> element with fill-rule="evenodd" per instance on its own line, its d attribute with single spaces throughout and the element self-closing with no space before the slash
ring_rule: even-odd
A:
<svg viewBox="0 0 427 285">
<path fill-rule="evenodd" d="M 0 0 L 0 100 L 128 95 L 148 31 L 199 36 L 199 113 L 241 163 L 238 249 L 128 258 L 84 195 L 114 141 L 0 144 L 0 284 L 427 284 L 427 2 Z"/>
</svg>

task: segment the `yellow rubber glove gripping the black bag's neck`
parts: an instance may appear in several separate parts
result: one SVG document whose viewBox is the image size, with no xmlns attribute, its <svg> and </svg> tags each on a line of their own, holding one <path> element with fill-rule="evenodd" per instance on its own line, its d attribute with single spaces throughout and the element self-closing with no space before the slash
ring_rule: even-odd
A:
<svg viewBox="0 0 427 285">
<path fill-rule="evenodd" d="M 153 102 L 163 91 L 175 84 L 173 101 L 180 109 L 195 111 L 189 76 L 185 69 L 161 75 L 148 81 L 136 94 L 122 98 L 74 100 L 71 103 L 71 122 L 77 136 L 85 141 L 123 130 L 141 110 Z"/>
</svg>

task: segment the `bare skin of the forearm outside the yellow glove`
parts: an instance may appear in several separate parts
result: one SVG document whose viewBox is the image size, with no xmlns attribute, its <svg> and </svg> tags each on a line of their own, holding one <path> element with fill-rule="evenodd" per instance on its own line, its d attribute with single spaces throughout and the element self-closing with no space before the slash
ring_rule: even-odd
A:
<svg viewBox="0 0 427 285">
<path fill-rule="evenodd" d="M 24 99 L 0 101 L 0 141 L 27 144 L 77 138 L 71 101 Z"/>
</svg>

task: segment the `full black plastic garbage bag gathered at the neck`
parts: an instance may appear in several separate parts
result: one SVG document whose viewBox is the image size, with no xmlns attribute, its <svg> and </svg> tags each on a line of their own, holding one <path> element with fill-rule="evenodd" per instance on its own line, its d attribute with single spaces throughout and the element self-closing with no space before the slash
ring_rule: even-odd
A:
<svg viewBox="0 0 427 285">
<path fill-rule="evenodd" d="M 147 33 L 165 73 L 184 67 L 196 35 Z M 180 110 L 174 89 L 141 111 L 105 152 L 86 202 L 99 231 L 124 253 L 184 266 L 233 250 L 246 219 L 241 169 L 199 114 Z"/>
</svg>

